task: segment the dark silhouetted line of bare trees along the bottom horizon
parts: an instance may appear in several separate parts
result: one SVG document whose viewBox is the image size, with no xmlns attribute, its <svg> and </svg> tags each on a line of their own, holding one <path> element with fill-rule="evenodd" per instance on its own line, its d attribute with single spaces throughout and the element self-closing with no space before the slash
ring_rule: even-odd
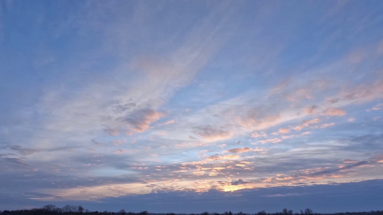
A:
<svg viewBox="0 0 383 215">
<path fill-rule="evenodd" d="M 141 211 L 139 213 L 126 212 L 124 209 L 119 210 L 119 212 L 110 212 L 110 211 L 90 211 L 83 208 L 81 205 L 65 205 L 64 207 L 56 207 L 55 205 L 45 205 L 42 208 L 32 208 L 29 210 L 4 210 L 0 211 L 1 215 L 164 215 L 164 213 L 149 213 L 147 211 Z M 175 213 L 166 213 L 166 215 L 176 215 Z M 191 213 L 190 215 L 383 215 L 383 210 L 376 210 L 370 212 L 341 212 L 341 213 L 314 213 L 310 208 L 300 210 L 298 213 L 293 213 L 293 210 L 288 210 L 284 208 L 282 212 L 276 213 L 267 213 L 262 210 L 256 213 Z"/>
</svg>

